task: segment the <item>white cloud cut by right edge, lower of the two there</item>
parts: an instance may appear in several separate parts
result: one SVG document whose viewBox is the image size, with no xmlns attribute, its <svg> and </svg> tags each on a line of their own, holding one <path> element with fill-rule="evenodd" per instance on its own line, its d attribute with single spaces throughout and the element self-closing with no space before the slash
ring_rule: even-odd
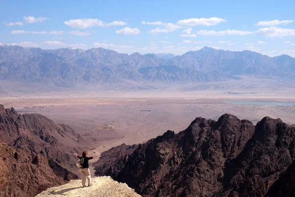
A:
<svg viewBox="0 0 295 197">
<path fill-rule="evenodd" d="M 277 27 L 262 28 L 257 33 L 265 34 L 267 37 L 283 37 L 283 36 L 294 36 L 295 29 L 285 29 Z"/>
</svg>

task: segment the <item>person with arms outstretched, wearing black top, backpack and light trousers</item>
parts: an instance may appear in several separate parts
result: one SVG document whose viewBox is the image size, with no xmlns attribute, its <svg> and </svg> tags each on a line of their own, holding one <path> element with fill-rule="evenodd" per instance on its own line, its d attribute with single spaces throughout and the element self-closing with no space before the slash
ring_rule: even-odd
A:
<svg viewBox="0 0 295 197">
<path fill-rule="evenodd" d="M 82 153 L 82 157 L 78 156 L 76 153 L 74 153 L 74 155 L 77 156 L 80 159 L 79 167 L 81 169 L 83 187 L 86 187 L 86 177 L 88 179 L 88 187 L 91 186 L 91 175 L 90 175 L 90 170 L 89 170 L 89 160 L 92 160 L 93 158 L 96 158 L 98 156 L 87 157 L 88 152 L 86 152 L 86 151 L 84 151 Z"/>
</svg>

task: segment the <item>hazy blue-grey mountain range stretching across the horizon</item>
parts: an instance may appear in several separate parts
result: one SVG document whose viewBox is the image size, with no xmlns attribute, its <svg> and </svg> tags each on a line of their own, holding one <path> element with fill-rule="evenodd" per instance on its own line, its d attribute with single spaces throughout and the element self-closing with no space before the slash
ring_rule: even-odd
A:
<svg viewBox="0 0 295 197">
<path fill-rule="evenodd" d="M 268 57 L 252 51 L 204 47 L 181 56 L 120 54 L 116 51 L 61 48 L 43 50 L 0 46 L 0 80 L 32 83 L 120 83 L 129 81 L 205 82 L 237 76 L 295 78 L 295 59 Z"/>
</svg>

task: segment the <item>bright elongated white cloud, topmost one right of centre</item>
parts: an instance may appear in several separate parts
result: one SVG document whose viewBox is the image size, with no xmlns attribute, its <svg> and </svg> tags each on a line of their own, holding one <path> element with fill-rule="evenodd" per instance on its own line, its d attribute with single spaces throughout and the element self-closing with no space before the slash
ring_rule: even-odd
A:
<svg viewBox="0 0 295 197">
<path fill-rule="evenodd" d="M 177 25 L 181 26 L 213 26 L 221 22 L 226 22 L 227 20 L 222 18 L 190 18 L 183 19 L 177 22 Z"/>
</svg>

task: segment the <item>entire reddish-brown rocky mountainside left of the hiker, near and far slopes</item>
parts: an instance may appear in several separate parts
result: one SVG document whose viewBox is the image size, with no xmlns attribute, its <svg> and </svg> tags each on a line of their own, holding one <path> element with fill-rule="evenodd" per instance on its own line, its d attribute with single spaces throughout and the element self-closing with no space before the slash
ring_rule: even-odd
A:
<svg viewBox="0 0 295 197">
<path fill-rule="evenodd" d="M 57 125 L 40 114 L 21 115 L 14 108 L 5 109 L 1 104 L 0 142 L 8 145 L 10 154 L 5 157 L 1 155 L 5 158 L 4 163 L 12 161 L 11 166 L 7 163 L 8 168 L 0 165 L 2 177 L 7 177 L 3 184 L 0 182 L 0 190 L 12 190 L 13 192 L 9 193 L 11 196 L 19 191 L 19 194 L 30 197 L 47 187 L 78 178 L 77 158 L 73 156 L 72 151 L 82 152 L 86 144 L 91 144 L 69 126 Z M 12 147 L 26 154 L 26 159 L 20 163 L 15 163 L 15 159 L 11 160 L 15 157 L 10 150 Z M 51 183 L 50 180 L 57 181 Z M 12 183 L 13 181 L 16 183 Z M 9 186 L 7 189 L 7 184 L 17 186 Z M 32 186 L 35 187 L 31 188 Z"/>
</svg>

